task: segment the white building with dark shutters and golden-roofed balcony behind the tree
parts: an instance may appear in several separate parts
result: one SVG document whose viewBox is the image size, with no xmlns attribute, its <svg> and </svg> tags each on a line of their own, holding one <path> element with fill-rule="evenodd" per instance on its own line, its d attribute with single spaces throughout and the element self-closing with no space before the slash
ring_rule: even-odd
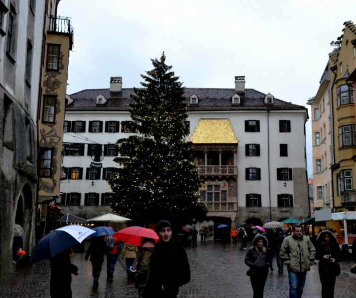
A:
<svg viewBox="0 0 356 298">
<path fill-rule="evenodd" d="M 263 224 L 307 217 L 307 109 L 269 93 L 245 89 L 243 76 L 235 79 L 235 89 L 185 90 L 189 138 L 199 173 L 206 181 L 201 190 L 209 209 L 205 223 L 215 232 L 221 223 Z M 121 86 L 122 79 L 116 77 L 111 89 L 86 89 L 68 96 L 63 212 L 90 218 L 110 211 L 105 179 L 116 166 L 113 145 L 130 134 L 124 132 L 124 123 L 130 121 L 127 104 L 132 102 L 129 93 L 133 89 Z M 101 169 L 90 168 L 97 144 L 103 150 Z"/>
</svg>

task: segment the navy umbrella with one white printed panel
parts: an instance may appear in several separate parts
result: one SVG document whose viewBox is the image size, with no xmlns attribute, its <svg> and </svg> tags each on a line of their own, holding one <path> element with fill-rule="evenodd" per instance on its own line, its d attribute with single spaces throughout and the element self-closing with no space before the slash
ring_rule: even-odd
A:
<svg viewBox="0 0 356 298">
<path fill-rule="evenodd" d="M 70 224 L 51 231 L 45 235 L 33 249 L 30 264 L 53 258 L 63 250 L 82 243 L 89 235 L 95 233 L 82 225 Z"/>
</svg>

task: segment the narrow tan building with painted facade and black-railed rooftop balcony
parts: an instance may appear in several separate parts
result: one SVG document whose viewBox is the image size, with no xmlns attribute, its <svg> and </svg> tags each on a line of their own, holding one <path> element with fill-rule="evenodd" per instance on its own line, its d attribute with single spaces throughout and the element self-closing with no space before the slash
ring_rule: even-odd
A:
<svg viewBox="0 0 356 298">
<path fill-rule="evenodd" d="M 48 204 L 59 197 L 68 60 L 73 49 L 71 20 L 57 16 L 58 2 L 48 2 L 45 16 L 38 131 L 39 234 L 44 232 Z"/>
</svg>

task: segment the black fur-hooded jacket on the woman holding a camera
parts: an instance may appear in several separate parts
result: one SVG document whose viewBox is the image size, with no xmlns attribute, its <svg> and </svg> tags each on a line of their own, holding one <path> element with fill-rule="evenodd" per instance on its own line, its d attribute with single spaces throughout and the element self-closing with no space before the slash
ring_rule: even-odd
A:
<svg viewBox="0 0 356 298">
<path fill-rule="evenodd" d="M 328 234 L 330 237 L 329 244 L 324 242 L 324 235 Z M 318 245 L 316 249 L 315 259 L 319 260 L 319 270 L 326 270 L 326 267 L 330 265 L 330 261 L 324 259 L 325 255 L 331 255 L 331 258 L 335 259 L 336 262 L 341 262 L 341 250 L 338 244 L 338 239 L 335 237 L 332 231 L 323 230 L 319 233 Z"/>
</svg>

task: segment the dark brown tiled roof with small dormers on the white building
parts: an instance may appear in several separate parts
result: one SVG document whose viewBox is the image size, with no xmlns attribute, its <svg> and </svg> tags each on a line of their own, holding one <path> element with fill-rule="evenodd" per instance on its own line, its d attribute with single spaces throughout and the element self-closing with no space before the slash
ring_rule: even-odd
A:
<svg viewBox="0 0 356 298">
<path fill-rule="evenodd" d="M 110 89 L 85 89 L 70 95 L 73 103 L 66 106 L 67 110 L 127 110 L 128 104 L 133 103 L 130 98 L 133 88 L 122 88 L 121 92 L 110 92 Z M 103 105 L 97 105 L 97 96 L 102 94 L 108 101 Z M 199 98 L 198 105 L 190 105 L 190 96 L 195 94 Z M 189 110 L 239 110 L 239 109 L 305 109 L 304 106 L 292 104 L 274 98 L 273 104 L 265 104 L 266 94 L 254 89 L 246 89 L 245 93 L 237 93 L 240 96 L 240 104 L 232 103 L 235 89 L 223 88 L 185 88 L 184 97 L 189 104 Z"/>
</svg>

